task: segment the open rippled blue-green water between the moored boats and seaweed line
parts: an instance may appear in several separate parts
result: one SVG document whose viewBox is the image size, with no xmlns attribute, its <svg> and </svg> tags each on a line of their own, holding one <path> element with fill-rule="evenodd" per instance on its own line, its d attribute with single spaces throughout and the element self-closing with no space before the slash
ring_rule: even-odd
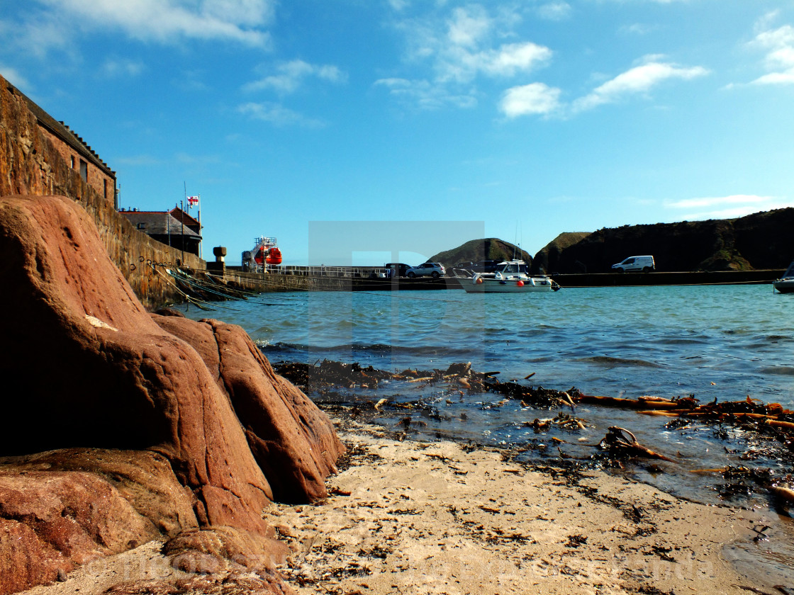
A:
<svg viewBox="0 0 794 595">
<path fill-rule="evenodd" d="M 187 313 L 240 324 L 274 361 L 467 361 L 560 390 L 794 408 L 794 295 L 769 285 L 262 294 Z"/>
</svg>

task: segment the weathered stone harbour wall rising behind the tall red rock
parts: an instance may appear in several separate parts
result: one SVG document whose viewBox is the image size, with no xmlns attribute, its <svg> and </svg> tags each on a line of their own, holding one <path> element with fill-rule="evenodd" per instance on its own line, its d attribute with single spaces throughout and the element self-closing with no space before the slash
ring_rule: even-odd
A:
<svg viewBox="0 0 794 595">
<path fill-rule="evenodd" d="M 114 209 L 112 197 L 84 182 L 71 169 L 52 137 L 43 131 L 25 98 L 0 76 L 0 196 L 58 194 L 75 200 L 93 217 L 110 259 L 121 269 L 138 298 L 155 308 L 181 295 L 164 274 L 178 262 L 203 269 L 198 256 L 183 254 L 139 232 Z"/>
</svg>

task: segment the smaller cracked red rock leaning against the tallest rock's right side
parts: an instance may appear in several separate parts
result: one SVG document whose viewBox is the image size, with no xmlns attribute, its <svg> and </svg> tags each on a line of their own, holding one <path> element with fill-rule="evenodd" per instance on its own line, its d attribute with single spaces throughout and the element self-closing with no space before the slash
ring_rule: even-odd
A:
<svg viewBox="0 0 794 595">
<path fill-rule="evenodd" d="M 326 497 L 324 479 L 345 451 L 326 414 L 273 371 L 239 326 L 152 317 L 195 347 L 229 395 L 276 500 L 303 503 Z"/>
</svg>

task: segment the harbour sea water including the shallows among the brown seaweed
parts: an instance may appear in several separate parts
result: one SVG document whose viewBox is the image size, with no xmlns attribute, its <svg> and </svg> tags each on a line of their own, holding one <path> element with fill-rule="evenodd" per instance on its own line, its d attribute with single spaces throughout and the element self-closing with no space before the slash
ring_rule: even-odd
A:
<svg viewBox="0 0 794 595">
<path fill-rule="evenodd" d="M 612 397 L 694 395 L 701 402 L 748 395 L 794 409 L 794 294 L 770 285 L 563 289 L 549 294 L 465 294 L 463 291 L 263 294 L 224 302 L 214 312 L 183 307 L 188 317 L 240 324 L 272 362 L 357 362 L 384 370 L 445 370 L 471 362 L 499 379 Z M 523 380 L 534 373 L 530 380 Z M 641 443 L 676 463 L 638 464 L 634 477 L 698 501 L 763 508 L 765 496 L 726 500 L 714 474 L 690 470 L 765 466 L 778 477 L 791 466 L 740 430 L 691 424 L 668 429 L 669 418 L 595 406 L 576 408 L 587 422 L 578 434 L 538 433 L 525 422 L 565 409 L 523 408 L 499 394 L 462 395 L 460 386 L 393 382 L 353 398 L 421 399 L 426 420 L 417 432 L 478 443 L 531 445 L 529 456 L 559 451 L 587 458 L 607 427 L 630 429 Z M 567 409 L 566 413 L 572 413 Z M 379 419 L 395 428 L 399 412 Z M 414 417 L 417 414 L 414 413 Z M 565 443 L 555 443 L 557 437 Z M 559 447 L 559 450 L 558 450 Z M 754 452 L 748 459 L 746 453 Z M 760 454 L 759 454 L 760 453 Z M 791 527 L 785 529 L 790 532 Z M 791 535 L 765 554 L 773 574 L 791 573 Z M 761 546 L 753 546 L 761 547 Z M 755 558 L 757 551 L 751 557 Z M 741 559 L 741 553 L 738 558 Z"/>
</svg>

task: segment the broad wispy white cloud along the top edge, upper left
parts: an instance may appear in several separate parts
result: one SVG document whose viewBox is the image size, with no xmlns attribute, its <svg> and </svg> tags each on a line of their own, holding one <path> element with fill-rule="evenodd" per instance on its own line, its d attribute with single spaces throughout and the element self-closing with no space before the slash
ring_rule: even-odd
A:
<svg viewBox="0 0 794 595">
<path fill-rule="evenodd" d="M 263 47 L 263 28 L 273 17 L 273 0 L 37 0 L 48 13 L 32 13 L 26 36 L 44 48 L 63 45 L 81 30 L 118 29 L 141 41 L 176 44 L 185 39 L 224 40 Z M 55 39 L 40 35 L 57 29 Z"/>
</svg>

